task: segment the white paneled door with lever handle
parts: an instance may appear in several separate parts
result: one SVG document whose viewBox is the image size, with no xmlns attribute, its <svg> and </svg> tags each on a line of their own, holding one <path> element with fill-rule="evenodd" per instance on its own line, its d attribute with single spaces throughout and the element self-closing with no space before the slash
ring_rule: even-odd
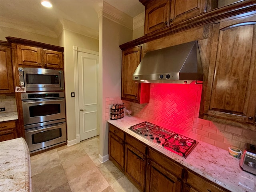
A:
<svg viewBox="0 0 256 192">
<path fill-rule="evenodd" d="M 99 134 L 97 128 L 97 66 L 99 56 L 78 52 L 80 140 Z"/>
</svg>

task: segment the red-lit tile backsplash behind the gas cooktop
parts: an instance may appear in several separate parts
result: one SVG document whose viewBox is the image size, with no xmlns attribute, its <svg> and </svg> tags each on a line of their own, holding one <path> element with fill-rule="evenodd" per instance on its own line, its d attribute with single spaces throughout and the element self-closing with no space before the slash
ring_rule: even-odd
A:
<svg viewBox="0 0 256 192">
<path fill-rule="evenodd" d="M 198 118 L 202 85 L 151 84 L 150 102 L 137 104 L 122 101 L 120 97 L 106 98 L 106 120 L 114 103 L 124 102 L 132 115 L 164 126 L 188 136 L 228 150 L 228 146 L 243 148 L 249 142 L 256 144 L 256 131 L 220 124 Z"/>
</svg>

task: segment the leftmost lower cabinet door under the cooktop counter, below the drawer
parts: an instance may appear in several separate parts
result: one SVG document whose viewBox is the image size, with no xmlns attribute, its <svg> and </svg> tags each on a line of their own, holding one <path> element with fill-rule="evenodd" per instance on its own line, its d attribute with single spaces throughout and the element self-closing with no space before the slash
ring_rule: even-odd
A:
<svg viewBox="0 0 256 192">
<path fill-rule="evenodd" d="M 109 143 L 110 160 L 114 160 L 116 165 L 124 171 L 124 142 L 114 134 L 110 133 Z"/>
</svg>

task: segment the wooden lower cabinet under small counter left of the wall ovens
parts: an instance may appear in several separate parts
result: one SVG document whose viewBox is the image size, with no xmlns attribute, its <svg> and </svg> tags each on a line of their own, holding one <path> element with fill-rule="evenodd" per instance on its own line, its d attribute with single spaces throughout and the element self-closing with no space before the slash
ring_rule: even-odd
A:
<svg viewBox="0 0 256 192">
<path fill-rule="evenodd" d="M 0 122 L 0 141 L 17 138 L 16 120 Z"/>
</svg>

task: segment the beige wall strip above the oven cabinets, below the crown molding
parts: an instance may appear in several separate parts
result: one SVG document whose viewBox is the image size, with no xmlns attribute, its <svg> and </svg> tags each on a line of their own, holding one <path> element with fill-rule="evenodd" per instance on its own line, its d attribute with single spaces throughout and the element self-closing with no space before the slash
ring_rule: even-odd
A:
<svg viewBox="0 0 256 192">
<path fill-rule="evenodd" d="M 52 38 L 52 37 L 48 37 L 45 35 L 40 35 L 40 34 L 36 34 L 36 33 L 32 33 L 32 32 L 26 32 L 26 31 L 22 31 L 22 30 L 17 30 L 17 29 L 13 29 L 13 28 L 0 26 L 0 40 L 7 41 L 5 37 L 8 37 L 8 36 L 58 46 L 57 38 Z"/>
</svg>

